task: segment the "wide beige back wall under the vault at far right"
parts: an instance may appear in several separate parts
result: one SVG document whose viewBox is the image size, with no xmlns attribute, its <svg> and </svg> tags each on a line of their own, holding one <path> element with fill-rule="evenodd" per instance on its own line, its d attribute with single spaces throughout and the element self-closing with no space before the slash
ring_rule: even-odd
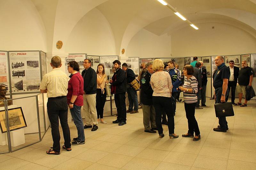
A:
<svg viewBox="0 0 256 170">
<path fill-rule="evenodd" d="M 212 29 L 212 26 L 215 28 Z M 244 30 L 219 23 L 198 24 L 172 34 L 173 56 L 239 55 L 255 53 L 256 39 Z"/>
</svg>

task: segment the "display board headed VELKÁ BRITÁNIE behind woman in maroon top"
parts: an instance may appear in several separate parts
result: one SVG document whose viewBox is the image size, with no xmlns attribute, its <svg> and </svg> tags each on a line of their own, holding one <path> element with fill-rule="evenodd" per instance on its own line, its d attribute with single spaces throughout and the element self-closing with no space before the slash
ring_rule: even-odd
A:
<svg viewBox="0 0 256 170">
<path fill-rule="evenodd" d="M 70 73 L 68 72 L 68 63 L 71 61 L 76 61 L 79 65 L 80 74 L 84 70 L 84 59 L 86 59 L 86 54 L 68 54 L 65 58 L 65 73 L 69 76 Z"/>
</svg>

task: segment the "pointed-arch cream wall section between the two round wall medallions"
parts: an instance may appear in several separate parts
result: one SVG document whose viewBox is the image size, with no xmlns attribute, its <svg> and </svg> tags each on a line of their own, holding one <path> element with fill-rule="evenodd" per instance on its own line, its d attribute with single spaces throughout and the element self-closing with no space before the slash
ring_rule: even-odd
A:
<svg viewBox="0 0 256 170">
<path fill-rule="evenodd" d="M 65 52 L 116 55 L 113 33 L 99 10 L 91 10 L 76 24 L 68 37 Z"/>
</svg>

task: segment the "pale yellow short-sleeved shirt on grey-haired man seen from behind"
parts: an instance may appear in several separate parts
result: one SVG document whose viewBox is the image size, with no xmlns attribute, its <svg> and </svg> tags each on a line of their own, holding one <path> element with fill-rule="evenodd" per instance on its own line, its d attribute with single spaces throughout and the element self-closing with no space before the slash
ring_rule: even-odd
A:
<svg viewBox="0 0 256 170">
<path fill-rule="evenodd" d="M 47 89 L 48 98 L 67 96 L 68 76 L 60 68 L 54 68 L 51 72 L 44 75 L 39 88 L 40 90 Z"/>
</svg>

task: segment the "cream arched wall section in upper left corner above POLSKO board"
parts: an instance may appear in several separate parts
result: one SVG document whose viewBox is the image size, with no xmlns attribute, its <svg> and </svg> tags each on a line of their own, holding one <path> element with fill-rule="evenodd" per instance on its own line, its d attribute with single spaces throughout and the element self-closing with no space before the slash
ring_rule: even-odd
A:
<svg viewBox="0 0 256 170">
<path fill-rule="evenodd" d="M 44 23 L 28 0 L 0 1 L 1 50 L 46 50 Z"/>
</svg>

